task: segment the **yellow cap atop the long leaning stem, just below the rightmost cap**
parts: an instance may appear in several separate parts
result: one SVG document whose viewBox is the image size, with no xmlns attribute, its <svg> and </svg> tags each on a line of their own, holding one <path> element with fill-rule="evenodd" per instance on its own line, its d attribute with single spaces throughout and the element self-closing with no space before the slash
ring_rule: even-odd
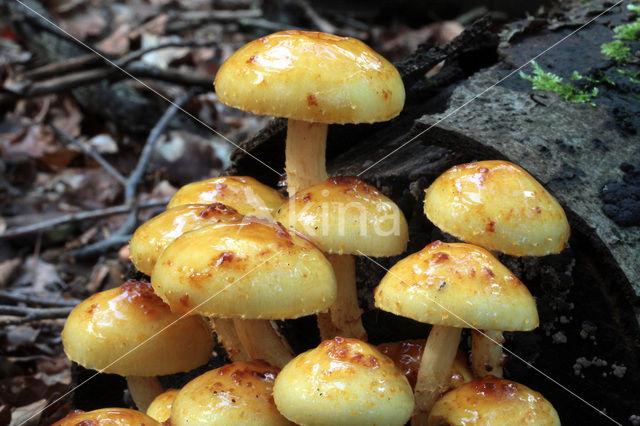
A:
<svg viewBox="0 0 640 426">
<path fill-rule="evenodd" d="M 527 287 L 488 251 L 435 241 L 396 263 L 374 292 L 376 306 L 416 321 L 482 330 L 533 330 Z"/>
</svg>

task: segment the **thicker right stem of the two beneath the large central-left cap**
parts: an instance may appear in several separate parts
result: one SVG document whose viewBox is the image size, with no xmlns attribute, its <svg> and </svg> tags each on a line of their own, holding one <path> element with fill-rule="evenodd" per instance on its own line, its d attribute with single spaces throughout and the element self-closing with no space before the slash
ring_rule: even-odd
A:
<svg viewBox="0 0 640 426">
<path fill-rule="evenodd" d="M 263 360 L 282 368 L 293 359 L 289 344 L 269 320 L 234 319 L 242 345 L 251 359 Z"/>
</svg>

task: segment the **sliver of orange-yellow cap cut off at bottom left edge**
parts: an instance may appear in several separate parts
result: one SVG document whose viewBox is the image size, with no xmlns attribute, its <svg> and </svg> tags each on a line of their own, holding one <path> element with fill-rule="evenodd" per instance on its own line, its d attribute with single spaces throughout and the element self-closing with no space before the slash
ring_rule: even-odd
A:
<svg viewBox="0 0 640 426">
<path fill-rule="evenodd" d="M 144 413 L 127 408 L 101 408 L 93 411 L 75 410 L 53 426 L 109 425 L 109 426 L 161 426 Z"/>
</svg>

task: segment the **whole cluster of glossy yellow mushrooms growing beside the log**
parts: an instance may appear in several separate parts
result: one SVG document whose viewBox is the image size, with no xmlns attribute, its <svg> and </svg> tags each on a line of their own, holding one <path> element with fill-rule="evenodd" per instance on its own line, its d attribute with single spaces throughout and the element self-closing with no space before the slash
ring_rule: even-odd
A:
<svg viewBox="0 0 640 426">
<path fill-rule="evenodd" d="M 432 242 L 390 268 L 376 306 L 432 328 L 426 340 L 376 347 L 360 319 L 353 256 L 402 254 L 408 225 L 373 186 L 327 176 L 325 138 L 330 123 L 398 115 L 398 72 L 357 40 L 285 31 L 241 48 L 215 84 L 226 104 L 289 119 L 289 198 L 222 176 L 181 188 L 140 226 L 130 256 L 150 282 L 82 302 L 63 343 L 75 362 L 126 376 L 147 415 L 109 408 L 56 425 L 462 424 L 462 412 L 498 422 L 499 406 L 512 420 L 558 423 L 541 395 L 500 378 L 502 331 L 532 330 L 538 314 L 495 253 L 556 253 L 569 237 L 539 183 L 490 161 L 456 166 L 426 190 L 427 217 L 462 242 Z M 296 355 L 275 320 L 312 314 L 322 342 Z M 473 330 L 473 373 L 459 349 L 463 328 Z M 230 363 L 163 389 L 156 376 L 205 364 L 214 334 Z"/>
</svg>

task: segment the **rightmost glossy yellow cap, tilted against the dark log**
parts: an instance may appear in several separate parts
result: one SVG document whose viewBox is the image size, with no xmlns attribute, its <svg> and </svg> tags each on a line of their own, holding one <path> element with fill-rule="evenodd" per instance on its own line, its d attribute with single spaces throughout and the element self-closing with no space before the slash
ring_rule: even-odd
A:
<svg viewBox="0 0 640 426">
<path fill-rule="evenodd" d="M 462 241 L 513 256 L 561 252 L 564 210 L 529 173 L 506 161 L 455 166 L 427 188 L 424 213 Z"/>
</svg>

